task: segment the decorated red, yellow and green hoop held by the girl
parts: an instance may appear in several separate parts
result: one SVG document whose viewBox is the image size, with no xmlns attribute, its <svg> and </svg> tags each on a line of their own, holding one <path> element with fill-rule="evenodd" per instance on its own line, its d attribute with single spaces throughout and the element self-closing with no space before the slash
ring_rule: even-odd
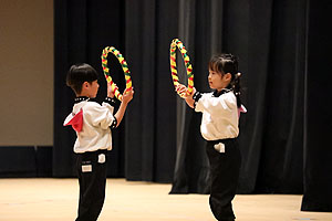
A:
<svg viewBox="0 0 332 221">
<path fill-rule="evenodd" d="M 184 59 L 184 62 L 185 62 L 185 65 L 186 65 L 186 69 L 187 69 L 187 76 L 188 76 L 188 90 L 186 93 L 179 93 L 178 92 L 178 95 L 180 97 L 184 97 L 186 94 L 187 95 L 190 95 L 194 91 L 194 74 L 191 73 L 193 72 L 193 66 L 190 64 L 190 60 L 189 60 L 189 56 L 187 55 L 187 50 L 185 49 L 183 42 L 178 39 L 174 39 L 170 43 L 170 53 L 169 53 L 169 59 L 170 59 L 170 72 L 172 72 L 172 78 L 173 78 L 173 83 L 174 83 L 174 86 L 176 87 L 177 85 L 179 85 L 179 80 L 178 80 L 178 76 L 177 76 L 177 70 L 176 70 L 176 48 L 179 49 L 181 55 L 183 55 L 183 59 Z"/>
</svg>

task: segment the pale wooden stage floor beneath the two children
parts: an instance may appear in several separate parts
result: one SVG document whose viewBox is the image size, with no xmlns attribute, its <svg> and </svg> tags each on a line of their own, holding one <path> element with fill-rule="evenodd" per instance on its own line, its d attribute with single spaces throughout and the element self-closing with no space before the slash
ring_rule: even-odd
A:
<svg viewBox="0 0 332 221">
<path fill-rule="evenodd" d="M 170 185 L 107 179 L 98 221 L 212 221 L 207 194 L 168 194 Z M 73 221 L 76 179 L 0 179 L 0 221 Z M 332 221 L 332 213 L 301 212 L 302 196 L 238 194 L 237 221 Z"/>
</svg>

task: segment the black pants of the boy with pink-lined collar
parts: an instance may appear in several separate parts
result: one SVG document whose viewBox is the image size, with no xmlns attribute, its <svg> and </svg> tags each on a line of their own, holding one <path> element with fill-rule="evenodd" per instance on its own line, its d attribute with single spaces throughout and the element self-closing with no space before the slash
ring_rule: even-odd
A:
<svg viewBox="0 0 332 221">
<path fill-rule="evenodd" d="M 96 221 L 105 199 L 107 150 L 77 154 L 80 183 L 76 221 Z"/>
</svg>

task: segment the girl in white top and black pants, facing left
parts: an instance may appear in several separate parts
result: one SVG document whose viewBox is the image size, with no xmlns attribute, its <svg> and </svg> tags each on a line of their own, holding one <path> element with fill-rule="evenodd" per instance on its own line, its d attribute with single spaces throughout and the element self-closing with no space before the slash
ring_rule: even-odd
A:
<svg viewBox="0 0 332 221">
<path fill-rule="evenodd" d="M 211 93 L 194 92 L 186 103 L 203 113 L 200 133 L 207 140 L 210 162 L 210 209 L 217 220 L 235 220 L 231 201 L 236 194 L 241 156 L 237 137 L 239 113 L 246 112 L 240 101 L 238 61 L 231 54 L 211 57 L 208 64 Z M 176 88 L 180 93 L 186 86 Z"/>
</svg>

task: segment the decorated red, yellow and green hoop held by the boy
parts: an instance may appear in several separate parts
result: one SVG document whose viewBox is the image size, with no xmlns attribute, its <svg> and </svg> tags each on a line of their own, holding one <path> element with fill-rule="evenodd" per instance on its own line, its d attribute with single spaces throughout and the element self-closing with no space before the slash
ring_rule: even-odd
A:
<svg viewBox="0 0 332 221">
<path fill-rule="evenodd" d="M 132 88 L 131 72 L 129 72 L 129 69 L 128 69 L 128 65 L 127 65 L 125 59 L 120 53 L 120 51 L 117 51 L 114 46 L 106 46 L 103 50 L 102 66 L 103 66 L 104 75 L 106 77 L 107 83 L 111 83 L 111 87 L 112 87 L 112 91 L 114 92 L 115 97 L 122 102 L 122 94 L 118 92 L 118 88 L 116 87 L 115 83 L 113 82 L 112 76 L 110 74 L 110 69 L 107 67 L 107 55 L 110 52 L 116 56 L 116 59 L 118 60 L 118 62 L 122 66 L 122 70 L 124 72 L 125 80 L 126 80 L 126 90 Z"/>
</svg>

